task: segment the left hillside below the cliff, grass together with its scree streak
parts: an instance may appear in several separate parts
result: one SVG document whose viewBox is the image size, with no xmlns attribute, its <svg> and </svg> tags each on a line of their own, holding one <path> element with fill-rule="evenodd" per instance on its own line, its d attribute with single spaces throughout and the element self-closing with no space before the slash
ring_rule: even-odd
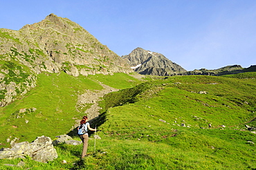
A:
<svg viewBox="0 0 256 170">
<path fill-rule="evenodd" d="M 82 116 L 88 115 L 91 120 L 100 114 L 98 101 L 104 94 L 140 82 L 125 73 L 87 77 L 64 72 L 41 73 L 37 75 L 35 88 L 0 108 L 0 145 L 8 147 L 15 138 L 23 142 L 41 135 L 55 138 L 66 134 L 77 126 Z"/>
</svg>

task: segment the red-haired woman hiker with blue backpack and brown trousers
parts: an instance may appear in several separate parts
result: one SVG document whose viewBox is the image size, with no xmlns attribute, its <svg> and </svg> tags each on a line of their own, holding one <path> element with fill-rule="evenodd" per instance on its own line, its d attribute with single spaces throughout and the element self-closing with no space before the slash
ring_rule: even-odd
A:
<svg viewBox="0 0 256 170">
<path fill-rule="evenodd" d="M 80 125 L 85 124 L 85 129 L 89 129 L 90 131 L 96 131 L 96 129 L 92 129 L 90 127 L 90 124 L 88 121 L 87 116 L 82 117 L 82 120 L 80 121 Z M 83 135 L 79 135 L 80 139 L 82 140 L 82 143 L 84 145 L 83 149 L 82 149 L 82 156 L 81 158 L 84 158 L 86 156 L 87 153 L 87 147 L 88 147 L 88 140 L 89 140 L 89 136 L 88 136 L 88 132 L 84 133 Z"/>
</svg>

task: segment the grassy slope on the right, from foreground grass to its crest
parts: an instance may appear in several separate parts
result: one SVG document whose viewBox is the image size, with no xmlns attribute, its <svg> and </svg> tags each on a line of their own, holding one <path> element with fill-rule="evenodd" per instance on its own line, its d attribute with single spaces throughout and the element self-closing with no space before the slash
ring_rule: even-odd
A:
<svg viewBox="0 0 256 170">
<path fill-rule="evenodd" d="M 256 169 L 255 145 L 248 143 L 255 134 L 236 130 L 255 126 L 255 88 L 251 78 L 183 76 L 111 93 L 102 101 L 95 155 L 79 160 L 81 146 L 61 144 L 49 164 L 24 161 L 37 169 Z"/>
</svg>

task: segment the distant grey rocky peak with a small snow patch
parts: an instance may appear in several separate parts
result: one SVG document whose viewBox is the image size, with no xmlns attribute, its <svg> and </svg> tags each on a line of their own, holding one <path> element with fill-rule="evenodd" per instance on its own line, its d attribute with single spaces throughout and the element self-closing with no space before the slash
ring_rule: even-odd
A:
<svg viewBox="0 0 256 170">
<path fill-rule="evenodd" d="M 142 75 L 169 76 L 186 71 L 164 55 L 143 48 L 136 48 L 129 55 L 123 55 L 122 58 L 130 64 L 131 68 Z"/>
</svg>

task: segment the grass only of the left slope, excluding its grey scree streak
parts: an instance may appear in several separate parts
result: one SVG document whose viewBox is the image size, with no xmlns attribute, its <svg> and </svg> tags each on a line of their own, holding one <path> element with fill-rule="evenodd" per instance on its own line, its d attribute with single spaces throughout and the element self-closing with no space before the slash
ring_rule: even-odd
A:
<svg viewBox="0 0 256 170">
<path fill-rule="evenodd" d="M 31 142 L 41 135 L 53 139 L 56 135 L 68 133 L 75 119 L 80 119 L 84 115 L 82 111 L 75 109 L 77 95 L 81 95 L 86 89 L 102 90 L 99 82 L 95 81 L 94 77 L 97 76 L 102 75 L 73 77 L 66 73 L 40 74 L 36 88 L 21 100 L 0 108 L 0 142 L 6 144 L 6 139 L 10 136 L 11 140 L 19 138 L 20 142 L 25 140 Z M 122 73 L 102 77 L 105 77 L 107 82 L 113 82 L 113 79 L 118 78 L 120 82 L 118 86 L 114 86 L 118 88 L 129 88 L 140 83 L 138 79 Z M 21 108 L 37 109 L 19 113 Z M 28 120 L 27 124 L 26 120 Z"/>
</svg>

